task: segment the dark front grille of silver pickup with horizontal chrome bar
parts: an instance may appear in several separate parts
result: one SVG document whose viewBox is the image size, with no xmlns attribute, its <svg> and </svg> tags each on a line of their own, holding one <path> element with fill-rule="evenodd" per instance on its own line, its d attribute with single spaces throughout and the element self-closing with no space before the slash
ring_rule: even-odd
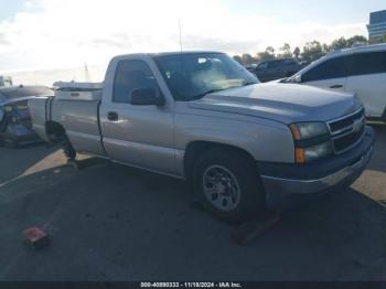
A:
<svg viewBox="0 0 386 289">
<path fill-rule="evenodd" d="M 334 152 L 343 153 L 360 143 L 365 133 L 365 110 L 361 110 L 346 117 L 332 120 L 329 128 L 332 137 Z"/>
</svg>

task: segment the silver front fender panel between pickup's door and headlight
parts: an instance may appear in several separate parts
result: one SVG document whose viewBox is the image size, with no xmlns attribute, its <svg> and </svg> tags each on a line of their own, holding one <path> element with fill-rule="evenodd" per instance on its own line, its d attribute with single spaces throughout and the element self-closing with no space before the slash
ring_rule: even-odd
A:
<svg viewBox="0 0 386 289">
<path fill-rule="evenodd" d="M 175 148 L 180 158 L 189 143 L 207 141 L 239 148 L 256 161 L 294 162 L 292 135 L 280 122 L 181 115 L 175 124 Z"/>
</svg>

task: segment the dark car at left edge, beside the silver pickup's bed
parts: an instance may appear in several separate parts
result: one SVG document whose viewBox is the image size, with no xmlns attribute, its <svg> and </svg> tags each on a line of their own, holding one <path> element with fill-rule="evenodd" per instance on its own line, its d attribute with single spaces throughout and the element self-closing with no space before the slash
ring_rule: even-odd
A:
<svg viewBox="0 0 386 289">
<path fill-rule="evenodd" d="M 10 86 L 0 88 L 0 146 L 17 147 L 39 141 L 32 130 L 28 100 L 53 95 L 45 86 Z"/>
</svg>

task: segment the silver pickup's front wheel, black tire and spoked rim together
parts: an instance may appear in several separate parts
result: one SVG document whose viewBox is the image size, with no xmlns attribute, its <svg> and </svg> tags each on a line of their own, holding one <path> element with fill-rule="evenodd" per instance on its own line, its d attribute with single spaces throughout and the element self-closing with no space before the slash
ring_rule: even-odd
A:
<svg viewBox="0 0 386 289">
<path fill-rule="evenodd" d="M 229 222 L 247 221 L 265 210 L 265 191 L 256 165 L 243 153 L 207 151 L 196 161 L 193 185 L 202 205 Z"/>
</svg>

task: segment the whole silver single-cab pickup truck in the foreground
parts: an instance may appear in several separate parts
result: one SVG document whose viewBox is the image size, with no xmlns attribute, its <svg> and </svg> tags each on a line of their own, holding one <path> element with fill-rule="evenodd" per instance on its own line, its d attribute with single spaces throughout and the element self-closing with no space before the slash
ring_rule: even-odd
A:
<svg viewBox="0 0 386 289">
<path fill-rule="evenodd" d="M 223 220 L 253 217 L 278 195 L 349 186 L 373 152 L 354 95 L 258 84 L 223 53 L 117 56 L 98 89 L 30 100 L 33 128 L 69 159 L 85 152 L 185 179 Z"/>
</svg>

